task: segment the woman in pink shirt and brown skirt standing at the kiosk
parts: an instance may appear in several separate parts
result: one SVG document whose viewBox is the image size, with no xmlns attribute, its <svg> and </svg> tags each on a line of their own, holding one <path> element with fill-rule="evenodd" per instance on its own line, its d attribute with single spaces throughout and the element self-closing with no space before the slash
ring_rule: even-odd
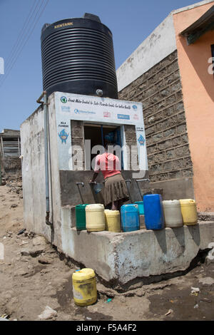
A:
<svg viewBox="0 0 214 335">
<path fill-rule="evenodd" d="M 112 148 L 112 145 L 109 146 Z M 105 206 L 111 204 L 111 210 L 120 210 L 122 202 L 128 200 L 128 190 L 121 175 L 120 160 L 116 155 L 108 152 L 108 144 L 106 145 L 106 152 L 103 155 L 96 156 L 91 182 L 96 180 L 99 171 L 103 173 L 105 180 Z"/>
</svg>

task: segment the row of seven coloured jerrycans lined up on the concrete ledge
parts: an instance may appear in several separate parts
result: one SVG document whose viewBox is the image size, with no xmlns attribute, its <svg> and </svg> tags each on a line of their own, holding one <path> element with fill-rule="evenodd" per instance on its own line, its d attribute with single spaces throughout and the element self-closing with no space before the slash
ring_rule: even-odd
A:
<svg viewBox="0 0 214 335">
<path fill-rule="evenodd" d="M 164 227 L 196 225 L 198 222 L 195 200 L 165 200 L 161 195 L 144 195 L 143 207 L 147 230 Z M 131 232 L 140 229 L 138 205 L 128 204 L 118 210 L 105 210 L 102 204 L 77 205 L 76 229 L 98 232 Z"/>
</svg>

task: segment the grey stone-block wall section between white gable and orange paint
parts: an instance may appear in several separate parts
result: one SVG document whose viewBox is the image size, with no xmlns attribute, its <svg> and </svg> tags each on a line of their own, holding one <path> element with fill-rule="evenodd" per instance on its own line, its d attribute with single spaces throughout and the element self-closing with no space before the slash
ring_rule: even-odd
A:
<svg viewBox="0 0 214 335">
<path fill-rule="evenodd" d="M 177 51 L 123 88 L 119 99 L 143 103 L 151 181 L 191 177 L 193 165 Z"/>
</svg>

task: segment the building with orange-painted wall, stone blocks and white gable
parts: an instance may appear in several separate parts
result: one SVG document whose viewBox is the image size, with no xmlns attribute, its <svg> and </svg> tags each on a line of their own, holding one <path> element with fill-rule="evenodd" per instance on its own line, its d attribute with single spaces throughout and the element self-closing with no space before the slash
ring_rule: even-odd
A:
<svg viewBox="0 0 214 335">
<path fill-rule="evenodd" d="M 149 176 L 163 198 L 214 210 L 214 1 L 178 9 L 118 68 L 119 98 L 143 103 Z"/>
</svg>

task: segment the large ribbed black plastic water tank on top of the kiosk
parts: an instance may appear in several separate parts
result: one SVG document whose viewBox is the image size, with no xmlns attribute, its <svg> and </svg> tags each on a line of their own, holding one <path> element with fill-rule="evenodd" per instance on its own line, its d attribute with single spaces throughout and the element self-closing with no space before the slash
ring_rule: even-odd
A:
<svg viewBox="0 0 214 335">
<path fill-rule="evenodd" d="M 118 98 L 112 33 L 98 16 L 64 19 L 41 30 L 44 91 Z M 102 94 L 102 92 L 101 92 Z"/>
</svg>

